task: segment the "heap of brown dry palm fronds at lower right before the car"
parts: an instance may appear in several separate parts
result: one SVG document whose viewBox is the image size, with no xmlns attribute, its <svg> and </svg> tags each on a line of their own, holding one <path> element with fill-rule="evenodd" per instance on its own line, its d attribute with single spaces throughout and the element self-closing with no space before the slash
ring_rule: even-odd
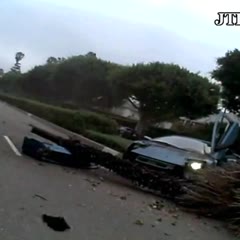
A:
<svg viewBox="0 0 240 240">
<path fill-rule="evenodd" d="M 206 169 L 185 183 L 178 203 L 195 213 L 226 221 L 240 234 L 240 164 Z"/>
</svg>

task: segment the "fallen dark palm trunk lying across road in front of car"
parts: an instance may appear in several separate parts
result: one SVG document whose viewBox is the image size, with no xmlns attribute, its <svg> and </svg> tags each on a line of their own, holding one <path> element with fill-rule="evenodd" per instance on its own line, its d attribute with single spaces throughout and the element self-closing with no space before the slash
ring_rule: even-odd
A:
<svg viewBox="0 0 240 240">
<path fill-rule="evenodd" d="M 76 167 L 94 163 L 131 180 L 139 187 L 158 192 L 171 199 L 183 193 L 182 183 L 184 180 L 179 177 L 169 175 L 164 171 L 160 172 L 159 170 L 156 171 L 148 167 L 139 166 L 138 164 L 115 157 L 110 153 L 102 152 L 95 148 L 81 144 L 77 140 L 63 139 L 37 127 L 32 128 L 32 133 L 51 140 L 57 145 L 67 149 L 71 153 L 71 156 L 64 158 L 62 160 L 63 163 L 69 163 L 69 165 L 75 165 Z M 27 141 L 29 141 L 29 143 L 27 143 Z M 28 146 L 30 146 L 30 142 L 33 141 L 36 140 L 25 139 L 26 144 L 23 145 L 24 153 L 29 155 Z M 34 152 L 39 151 L 34 150 Z M 35 156 L 35 158 L 41 159 L 42 155 L 43 153 L 40 151 L 40 156 Z M 61 161 L 61 159 L 58 158 L 58 161 Z"/>
</svg>

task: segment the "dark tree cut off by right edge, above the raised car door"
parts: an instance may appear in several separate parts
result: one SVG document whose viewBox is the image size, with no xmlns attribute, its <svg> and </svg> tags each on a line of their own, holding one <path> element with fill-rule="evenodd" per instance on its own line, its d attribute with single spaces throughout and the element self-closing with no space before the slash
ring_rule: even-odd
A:
<svg viewBox="0 0 240 240">
<path fill-rule="evenodd" d="M 240 51 L 228 51 L 217 59 L 212 77 L 222 85 L 223 105 L 234 113 L 240 113 Z"/>
</svg>

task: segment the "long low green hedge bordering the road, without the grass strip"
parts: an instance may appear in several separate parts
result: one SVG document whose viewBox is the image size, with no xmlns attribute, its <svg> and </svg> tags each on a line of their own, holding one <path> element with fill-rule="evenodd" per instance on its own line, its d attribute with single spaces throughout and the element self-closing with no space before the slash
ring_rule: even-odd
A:
<svg viewBox="0 0 240 240">
<path fill-rule="evenodd" d="M 109 134 L 117 133 L 116 121 L 97 113 L 65 109 L 9 95 L 0 95 L 0 99 L 77 133 L 82 133 L 85 129 Z"/>
</svg>

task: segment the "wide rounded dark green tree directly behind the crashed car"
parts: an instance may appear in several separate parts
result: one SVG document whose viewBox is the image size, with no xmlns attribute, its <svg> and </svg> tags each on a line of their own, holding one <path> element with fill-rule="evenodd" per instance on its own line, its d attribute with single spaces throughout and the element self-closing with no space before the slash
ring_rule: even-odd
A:
<svg viewBox="0 0 240 240">
<path fill-rule="evenodd" d="M 139 110 L 140 132 L 148 123 L 179 116 L 201 117 L 217 108 L 217 85 L 175 64 L 137 64 L 118 70 L 113 79 Z M 139 102 L 138 106 L 131 96 Z"/>
</svg>

